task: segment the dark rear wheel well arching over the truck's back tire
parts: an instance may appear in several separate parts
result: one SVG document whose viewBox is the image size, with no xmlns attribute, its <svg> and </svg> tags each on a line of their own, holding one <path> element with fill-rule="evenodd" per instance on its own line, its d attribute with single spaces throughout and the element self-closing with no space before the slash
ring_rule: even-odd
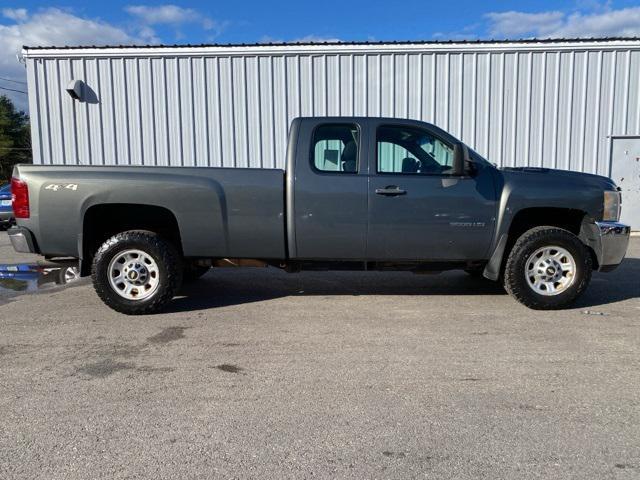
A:
<svg viewBox="0 0 640 480">
<path fill-rule="evenodd" d="M 170 210 L 154 205 L 129 203 L 95 205 L 84 215 L 81 275 L 90 274 L 93 256 L 105 240 L 127 230 L 149 230 L 157 233 L 182 252 L 178 221 Z"/>
</svg>

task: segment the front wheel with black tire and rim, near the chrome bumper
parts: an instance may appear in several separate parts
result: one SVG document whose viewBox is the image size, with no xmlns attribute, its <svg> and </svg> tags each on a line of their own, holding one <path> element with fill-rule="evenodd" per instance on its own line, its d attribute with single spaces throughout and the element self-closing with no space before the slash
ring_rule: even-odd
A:
<svg viewBox="0 0 640 480">
<path fill-rule="evenodd" d="M 525 232 L 511 249 L 504 287 L 529 308 L 557 310 L 584 293 L 592 269 L 589 250 L 573 233 L 536 227 Z"/>
</svg>

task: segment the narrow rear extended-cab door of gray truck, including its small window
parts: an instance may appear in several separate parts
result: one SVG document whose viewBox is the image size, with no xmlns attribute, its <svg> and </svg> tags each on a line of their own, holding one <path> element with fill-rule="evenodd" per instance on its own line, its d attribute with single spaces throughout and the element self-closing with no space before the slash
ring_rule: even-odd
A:
<svg viewBox="0 0 640 480">
<path fill-rule="evenodd" d="M 296 134 L 287 164 L 290 257 L 364 259 L 368 162 L 362 125 L 350 118 L 305 118 L 292 126 L 291 138 Z"/>
</svg>

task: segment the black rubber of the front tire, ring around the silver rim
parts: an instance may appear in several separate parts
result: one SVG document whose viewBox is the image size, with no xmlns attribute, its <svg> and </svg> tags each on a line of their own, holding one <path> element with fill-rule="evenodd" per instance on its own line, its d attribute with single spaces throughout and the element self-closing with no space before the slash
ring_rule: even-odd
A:
<svg viewBox="0 0 640 480">
<path fill-rule="evenodd" d="M 529 257 L 538 249 L 558 246 L 566 249 L 576 265 L 571 286 L 557 295 L 535 292 L 525 276 Z M 591 279 L 591 257 L 586 247 L 574 234 L 555 227 L 536 228 L 526 232 L 514 245 L 505 269 L 505 287 L 524 305 L 535 309 L 556 309 L 571 304 L 588 286 Z"/>
</svg>

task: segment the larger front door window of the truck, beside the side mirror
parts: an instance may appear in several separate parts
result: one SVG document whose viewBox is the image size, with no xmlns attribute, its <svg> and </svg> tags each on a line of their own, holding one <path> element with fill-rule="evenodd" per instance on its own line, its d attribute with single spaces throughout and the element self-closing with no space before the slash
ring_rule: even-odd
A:
<svg viewBox="0 0 640 480">
<path fill-rule="evenodd" d="M 380 127 L 376 143 L 378 173 L 440 175 L 453 166 L 453 147 L 420 128 Z"/>
</svg>

